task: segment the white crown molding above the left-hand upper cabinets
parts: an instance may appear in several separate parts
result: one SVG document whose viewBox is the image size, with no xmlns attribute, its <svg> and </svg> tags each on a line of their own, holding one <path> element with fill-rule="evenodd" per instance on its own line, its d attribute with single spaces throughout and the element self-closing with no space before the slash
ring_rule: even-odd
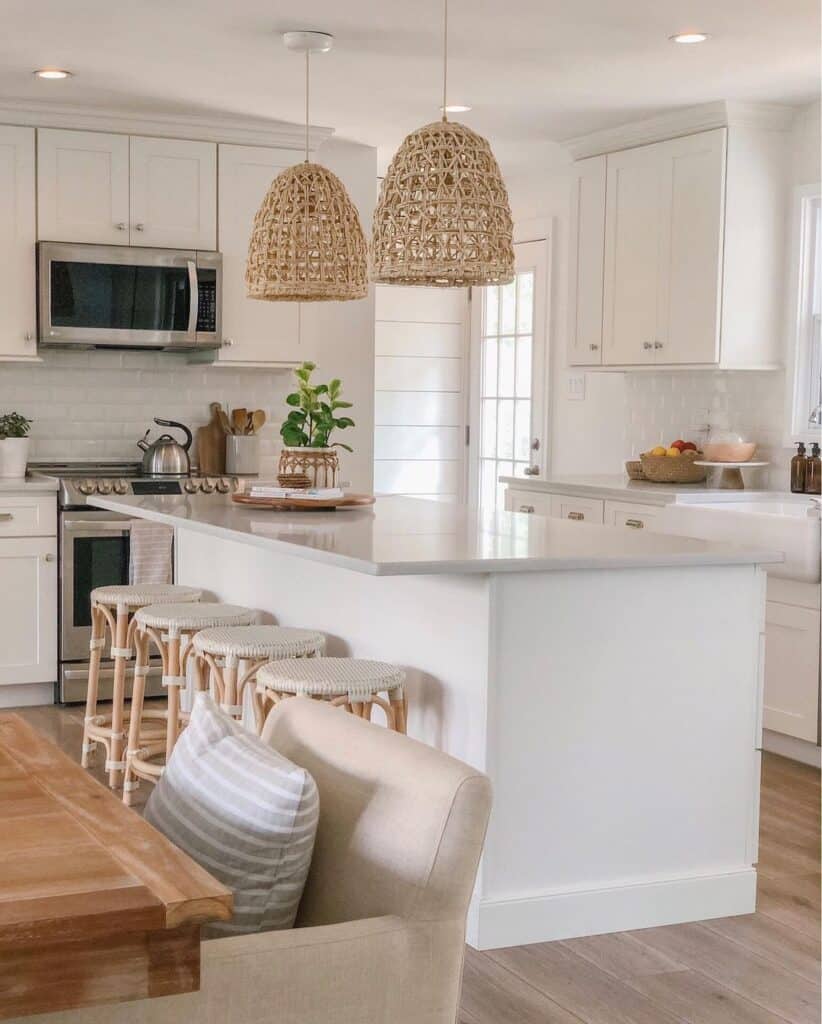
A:
<svg viewBox="0 0 822 1024">
<path fill-rule="evenodd" d="M 203 142 L 269 145 L 284 150 L 305 147 L 304 125 L 243 116 L 135 114 L 114 109 L 0 99 L 0 124 L 190 138 Z M 333 134 L 333 128 L 311 125 L 308 132 L 309 150 L 315 151 Z"/>
</svg>

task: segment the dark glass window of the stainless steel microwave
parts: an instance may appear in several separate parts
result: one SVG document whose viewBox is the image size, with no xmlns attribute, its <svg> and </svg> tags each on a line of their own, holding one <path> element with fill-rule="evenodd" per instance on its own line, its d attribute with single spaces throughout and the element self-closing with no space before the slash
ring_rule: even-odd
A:
<svg viewBox="0 0 822 1024">
<path fill-rule="evenodd" d="M 187 331 L 191 290 L 184 266 L 51 261 L 51 326 Z"/>
</svg>

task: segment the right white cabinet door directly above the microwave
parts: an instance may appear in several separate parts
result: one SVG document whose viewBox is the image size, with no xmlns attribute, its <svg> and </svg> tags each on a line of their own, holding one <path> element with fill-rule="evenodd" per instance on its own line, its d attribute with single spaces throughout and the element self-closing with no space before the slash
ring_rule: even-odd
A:
<svg viewBox="0 0 822 1024">
<path fill-rule="evenodd" d="M 217 146 L 131 138 L 131 245 L 217 248 Z"/>
</svg>

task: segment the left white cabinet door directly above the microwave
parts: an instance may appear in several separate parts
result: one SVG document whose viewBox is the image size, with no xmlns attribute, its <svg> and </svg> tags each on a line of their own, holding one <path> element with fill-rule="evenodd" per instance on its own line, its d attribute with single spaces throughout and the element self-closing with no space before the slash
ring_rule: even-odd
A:
<svg viewBox="0 0 822 1024">
<path fill-rule="evenodd" d="M 41 128 L 37 140 L 38 238 L 128 245 L 128 135 Z"/>
</svg>

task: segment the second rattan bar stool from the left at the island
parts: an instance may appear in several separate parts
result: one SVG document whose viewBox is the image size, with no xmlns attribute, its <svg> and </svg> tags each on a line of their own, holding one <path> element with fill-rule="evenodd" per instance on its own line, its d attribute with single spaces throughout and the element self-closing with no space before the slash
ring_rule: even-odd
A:
<svg viewBox="0 0 822 1024">
<path fill-rule="evenodd" d="M 137 611 L 134 616 L 137 659 L 126 751 L 126 777 L 123 782 L 123 800 L 126 804 L 131 803 L 139 779 L 156 782 L 163 774 L 163 765 L 157 764 L 156 759 L 165 755 L 168 761 L 180 727 L 188 717 L 180 710 L 180 688 L 187 684 L 185 672 L 193 649 L 191 638 L 201 630 L 213 626 L 250 626 L 256 617 L 256 611 L 236 604 L 152 604 Z M 145 713 L 144 676 L 152 643 L 163 659 L 163 685 L 166 687 L 167 702 L 165 710 Z M 196 685 L 198 689 L 203 689 L 203 680 L 196 679 Z M 148 716 L 165 720 L 165 736 L 143 742 L 141 722 Z"/>
</svg>

